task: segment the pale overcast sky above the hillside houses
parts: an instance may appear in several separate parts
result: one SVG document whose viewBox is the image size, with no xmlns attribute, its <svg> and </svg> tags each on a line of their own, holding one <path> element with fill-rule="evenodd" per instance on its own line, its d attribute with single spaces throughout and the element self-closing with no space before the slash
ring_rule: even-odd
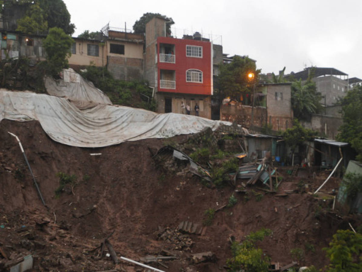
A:
<svg viewBox="0 0 362 272">
<path fill-rule="evenodd" d="M 143 13 L 153 12 L 172 17 L 177 36 L 182 29 L 212 34 L 224 53 L 248 55 L 262 73 L 313 65 L 362 78 L 361 0 L 63 1 L 75 37 L 108 22 L 132 29 Z"/>
</svg>

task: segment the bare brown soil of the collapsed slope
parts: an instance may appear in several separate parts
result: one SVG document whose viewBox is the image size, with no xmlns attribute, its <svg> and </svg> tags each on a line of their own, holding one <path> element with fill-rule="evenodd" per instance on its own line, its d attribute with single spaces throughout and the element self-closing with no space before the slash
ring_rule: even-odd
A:
<svg viewBox="0 0 362 272">
<path fill-rule="evenodd" d="M 39 200 L 20 148 L 8 131 L 20 138 L 47 208 Z M 326 212 L 332 200 L 306 192 L 324 181 L 323 174 L 313 180 L 308 175 L 291 178 L 282 172 L 279 192 L 291 190 L 291 194 L 274 196 L 254 187 L 249 189 L 264 196 L 257 201 L 249 194 L 250 200 L 245 201 L 243 194 L 235 193 L 238 203 L 217 212 L 205 235 L 189 234 L 193 245 L 175 250 L 173 241 L 159 238 L 159 228 L 175 229 L 184 220 L 202 224 L 205 211 L 227 204 L 233 189 L 207 188 L 190 174 L 164 175 L 149 151 L 163 145 L 164 140 L 148 139 L 106 148 L 76 148 L 52 141 L 38 122 L 1 121 L 0 225 L 4 228 L 0 228 L 0 247 L 8 257 L 32 254 L 34 271 L 142 271 L 123 261 L 114 265 L 105 254 L 101 258 L 88 252 L 114 231 L 109 241 L 118 256 L 139 260 L 165 249 L 173 251 L 177 259 L 164 262 L 168 269 L 155 263 L 151 266 L 165 271 L 224 271 L 226 260 L 231 258 L 229 237 L 241 241 L 252 231 L 269 228 L 272 236 L 258 246 L 272 261 L 291 263 L 290 250 L 299 247 L 306 252 L 301 265 L 321 268 L 327 264 L 321 248 L 328 246 L 337 229 L 348 228 L 346 220 Z M 74 194 L 68 186 L 55 196 L 58 172 L 77 176 Z M 310 186 L 305 188 L 304 183 Z M 338 179 L 333 178 L 324 191 L 335 188 Z M 214 253 L 217 260 L 193 264 L 190 254 L 204 251 Z M 4 261 L 0 255 L 0 262 Z"/>
</svg>

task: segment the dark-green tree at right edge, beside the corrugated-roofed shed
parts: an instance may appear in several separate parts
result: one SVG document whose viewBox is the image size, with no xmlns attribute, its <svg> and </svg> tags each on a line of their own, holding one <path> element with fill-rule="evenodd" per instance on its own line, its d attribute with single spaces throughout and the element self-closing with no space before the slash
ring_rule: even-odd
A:
<svg viewBox="0 0 362 272">
<path fill-rule="evenodd" d="M 362 162 L 362 86 L 356 86 L 341 99 L 343 124 L 338 129 L 338 141 L 351 144 Z"/>
</svg>

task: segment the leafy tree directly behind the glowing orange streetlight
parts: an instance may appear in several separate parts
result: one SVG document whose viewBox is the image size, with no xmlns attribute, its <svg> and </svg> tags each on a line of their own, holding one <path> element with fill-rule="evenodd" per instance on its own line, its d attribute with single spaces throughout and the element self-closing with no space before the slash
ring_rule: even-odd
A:
<svg viewBox="0 0 362 272">
<path fill-rule="evenodd" d="M 252 89 L 248 73 L 254 73 L 254 82 L 257 82 L 260 71 L 260 69 L 256 69 L 255 62 L 247 56 L 234 56 L 231 63 L 220 64 L 215 95 L 219 97 L 220 102 L 225 97 L 235 98 L 239 101 L 242 92 Z"/>
</svg>

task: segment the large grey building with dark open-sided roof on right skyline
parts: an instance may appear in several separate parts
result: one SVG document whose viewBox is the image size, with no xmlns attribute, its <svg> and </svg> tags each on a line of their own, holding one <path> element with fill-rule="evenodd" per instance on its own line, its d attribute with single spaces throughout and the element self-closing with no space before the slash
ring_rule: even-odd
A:
<svg viewBox="0 0 362 272">
<path fill-rule="evenodd" d="M 337 102 L 338 97 L 344 97 L 349 89 L 348 74 L 335 68 L 308 67 L 303 71 L 291 73 L 286 77 L 294 77 L 307 80 L 310 73 L 313 73 L 312 80 L 316 82 L 317 92 L 323 95 L 321 103 L 325 106 L 332 106 Z"/>
</svg>

